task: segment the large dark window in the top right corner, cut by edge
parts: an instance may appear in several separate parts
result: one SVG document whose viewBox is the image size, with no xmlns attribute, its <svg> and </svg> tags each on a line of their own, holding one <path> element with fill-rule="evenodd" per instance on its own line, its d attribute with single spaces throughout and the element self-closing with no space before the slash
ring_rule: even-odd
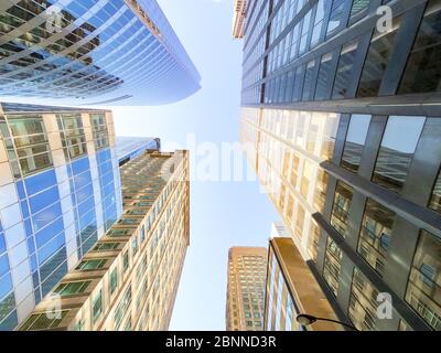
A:
<svg viewBox="0 0 441 353">
<path fill-rule="evenodd" d="M 441 90 L 441 1 L 428 4 L 410 53 L 399 94 Z"/>
</svg>

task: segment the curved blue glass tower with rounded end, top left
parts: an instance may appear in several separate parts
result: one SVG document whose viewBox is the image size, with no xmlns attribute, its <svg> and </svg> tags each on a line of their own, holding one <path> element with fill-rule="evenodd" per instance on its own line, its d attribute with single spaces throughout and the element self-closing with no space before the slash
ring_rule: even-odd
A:
<svg viewBox="0 0 441 353">
<path fill-rule="evenodd" d="M 0 3 L 3 98 L 160 105 L 197 92 L 200 81 L 155 0 Z"/>
</svg>

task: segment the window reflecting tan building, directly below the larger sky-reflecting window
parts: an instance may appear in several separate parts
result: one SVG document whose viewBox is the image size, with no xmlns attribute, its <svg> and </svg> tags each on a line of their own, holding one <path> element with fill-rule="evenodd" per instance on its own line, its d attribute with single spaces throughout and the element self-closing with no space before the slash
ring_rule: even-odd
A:
<svg viewBox="0 0 441 353">
<path fill-rule="evenodd" d="M 383 276 L 395 213 L 374 200 L 367 200 L 358 242 L 358 253 Z"/>
</svg>

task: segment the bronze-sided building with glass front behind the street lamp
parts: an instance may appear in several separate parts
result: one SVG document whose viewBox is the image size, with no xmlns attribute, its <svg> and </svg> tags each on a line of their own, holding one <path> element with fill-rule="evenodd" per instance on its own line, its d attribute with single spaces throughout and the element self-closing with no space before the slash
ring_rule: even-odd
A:
<svg viewBox="0 0 441 353">
<path fill-rule="evenodd" d="M 297 317 L 304 313 L 337 320 L 288 231 L 282 224 L 273 224 L 268 253 L 265 331 L 343 329 L 336 323 L 325 321 L 318 321 L 305 328 L 297 321 Z"/>
</svg>

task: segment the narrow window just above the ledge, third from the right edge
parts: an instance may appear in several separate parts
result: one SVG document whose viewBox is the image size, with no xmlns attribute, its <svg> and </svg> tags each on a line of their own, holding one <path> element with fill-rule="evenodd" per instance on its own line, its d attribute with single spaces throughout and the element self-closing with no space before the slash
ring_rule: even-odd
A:
<svg viewBox="0 0 441 353">
<path fill-rule="evenodd" d="M 354 79 L 354 63 L 356 63 L 357 53 L 357 41 L 351 42 L 342 47 L 335 74 L 334 88 L 332 90 L 333 99 L 349 98 L 347 96 L 347 87 L 349 87 Z"/>
</svg>

